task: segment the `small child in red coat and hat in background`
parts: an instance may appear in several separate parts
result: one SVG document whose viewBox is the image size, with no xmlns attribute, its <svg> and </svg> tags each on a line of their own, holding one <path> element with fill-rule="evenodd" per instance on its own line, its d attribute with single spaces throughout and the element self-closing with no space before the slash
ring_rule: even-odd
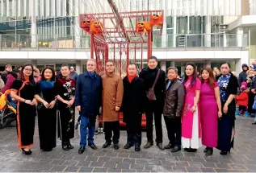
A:
<svg viewBox="0 0 256 173">
<path fill-rule="evenodd" d="M 246 89 L 247 89 L 247 83 L 242 82 L 241 88 L 240 88 L 240 94 L 239 94 L 239 96 L 236 96 L 237 105 L 239 105 L 239 110 L 236 111 L 237 112 L 236 115 L 244 114 L 246 117 L 249 117 L 248 112 L 247 112 L 249 97 L 248 97 L 248 94 L 245 93 Z"/>
</svg>

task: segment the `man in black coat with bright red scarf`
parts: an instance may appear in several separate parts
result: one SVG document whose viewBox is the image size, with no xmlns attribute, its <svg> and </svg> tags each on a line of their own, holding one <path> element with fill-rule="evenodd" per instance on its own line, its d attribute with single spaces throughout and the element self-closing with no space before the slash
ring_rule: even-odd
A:
<svg viewBox="0 0 256 173">
<path fill-rule="evenodd" d="M 124 77 L 124 97 L 121 111 L 126 123 L 127 143 L 124 149 L 133 145 L 135 151 L 141 150 L 141 118 L 145 109 L 145 87 L 143 80 L 136 76 L 136 64 L 128 65 L 128 76 Z M 132 104 L 131 104 L 132 103 Z"/>
</svg>

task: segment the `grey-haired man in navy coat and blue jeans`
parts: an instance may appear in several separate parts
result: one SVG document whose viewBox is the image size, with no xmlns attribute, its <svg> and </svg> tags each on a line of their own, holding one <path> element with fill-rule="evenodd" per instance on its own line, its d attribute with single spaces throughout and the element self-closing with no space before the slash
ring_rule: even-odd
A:
<svg viewBox="0 0 256 173">
<path fill-rule="evenodd" d="M 81 115 L 80 125 L 80 148 L 78 154 L 82 154 L 86 149 L 86 129 L 88 128 L 88 146 L 93 150 L 97 149 L 94 144 L 94 132 L 96 116 L 99 114 L 99 107 L 102 101 L 103 85 L 99 74 L 95 72 L 95 60 L 87 61 L 86 72 L 77 78 L 75 105 Z"/>
</svg>

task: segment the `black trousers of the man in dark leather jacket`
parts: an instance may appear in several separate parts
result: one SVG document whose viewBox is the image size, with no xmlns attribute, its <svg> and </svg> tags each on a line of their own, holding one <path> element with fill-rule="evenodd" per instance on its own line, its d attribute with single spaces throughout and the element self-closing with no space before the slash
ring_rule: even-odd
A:
<svg viewBox="0 0 256 173">
<path fill-rule="evenodd" d="M 164 117 L 166 129 L 170 144 L 172 146 L 181 146 L 182 142 L 182 123 L 181 117 Z"/>
</svg>

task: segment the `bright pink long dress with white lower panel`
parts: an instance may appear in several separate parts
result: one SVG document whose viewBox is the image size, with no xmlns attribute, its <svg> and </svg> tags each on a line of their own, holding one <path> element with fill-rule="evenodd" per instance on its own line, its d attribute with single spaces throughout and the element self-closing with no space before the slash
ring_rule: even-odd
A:
<svg viewBox="0 0 256 173">
<path fill-rule="evenodd" d="M 182 145 L 183 148 L 191 147 L 198 149 L 202 146 L 199 104 L 194 113 L 191 111 L 191 108 L 194 105 L 195 90 L 200 90 L 201 81 L 197 78 L 195 84 L 191 86 L 191 79 L 192 76 L 189 76 L 184 84 L 186 97 L 182 115 Z"/>
</svg>

